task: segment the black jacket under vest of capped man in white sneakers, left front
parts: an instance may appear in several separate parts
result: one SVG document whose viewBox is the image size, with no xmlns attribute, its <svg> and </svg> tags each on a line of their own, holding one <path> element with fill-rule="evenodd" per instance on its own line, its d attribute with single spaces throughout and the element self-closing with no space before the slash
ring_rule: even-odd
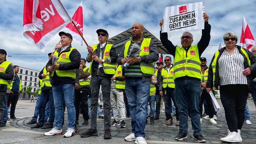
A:
<svg viewBox="0 0 256 144">
<path fill-rule="evenodd" d="M 71 45 L 62 52 L 70 51 L 70 48 L 71 48 Z M 60 56 L 60 54 L 62 53 L 60 52 L 61 48 L 59 48 L 57 51 L 59 52 L 58 56 Z M 81 58 L 81 54 L 78 52 L 78 50 L 77 49 L 72 50 L 72 52 L 69 55 L 69 59 L 71 60 L 71 62 L 60 64 L 59 70 L 65 71 L 65 70 L 78 69 L 81 61 L 80 58 Z M 52 58 L 46 64 L 46 68 L 48 68 L 49 66 L 52 66 Z M 51 84 L 54 85 L 56 83 L 75 84 L 75 79 L 71 77 L 59 77 L 57 76 L 56 71 L 54 71 L 54 75 L 51 77 Z"/>
</svg>

